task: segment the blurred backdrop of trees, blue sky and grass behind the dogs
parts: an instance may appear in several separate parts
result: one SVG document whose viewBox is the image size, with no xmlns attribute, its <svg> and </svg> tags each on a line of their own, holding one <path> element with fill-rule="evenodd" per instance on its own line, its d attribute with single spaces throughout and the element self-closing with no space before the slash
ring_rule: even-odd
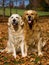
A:
<svg viewBox="0 0 49 65">
<path fill-rule="evenodd" d="M 36 10 L 40 16 L 49 15 L 49 0 L 0 0 L 0 15 L 22 15 L 27 9 Z"/>
</svg>

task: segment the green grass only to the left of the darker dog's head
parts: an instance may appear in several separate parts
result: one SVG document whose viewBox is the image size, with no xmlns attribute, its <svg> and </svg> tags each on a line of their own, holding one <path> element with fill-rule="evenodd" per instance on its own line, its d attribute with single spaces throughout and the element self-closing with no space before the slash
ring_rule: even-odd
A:
<svg viewBox="0 0 49 65">
<path fill-rule="evenodd" d="M 18 13 L 22 16 L 24 10 L 22 9 L 16 9 L 16 8 L 12 8 L 11 9 L 11 13 Z M 3 15 L 3 8 L 0 8 L 0 15 Z M 10 16 L 10 8 L 5 8 L 5 15 L 6 16 Z"/>
</svg>

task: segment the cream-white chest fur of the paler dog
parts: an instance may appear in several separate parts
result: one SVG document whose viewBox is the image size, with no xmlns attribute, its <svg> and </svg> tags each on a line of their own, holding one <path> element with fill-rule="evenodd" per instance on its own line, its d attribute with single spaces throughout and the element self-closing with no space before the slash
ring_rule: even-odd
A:
<svg viewBox="0 0 49 65">
<path fill-rule="evenodd" d="M 23 29 L 20 27 L 17 31 L 15 31 L 13 28 L 9 28 L 9 31 L 11 42 L 16 48 L 18 48 L 23 41 Z"/>
</svg>

